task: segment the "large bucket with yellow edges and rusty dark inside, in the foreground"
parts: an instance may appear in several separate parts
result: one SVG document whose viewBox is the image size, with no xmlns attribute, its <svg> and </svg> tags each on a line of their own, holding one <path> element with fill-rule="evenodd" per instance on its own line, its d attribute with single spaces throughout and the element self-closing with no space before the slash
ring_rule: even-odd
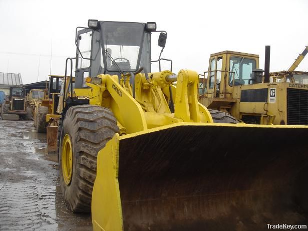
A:
<svg viewBox="0 0 308 231">
<path fill-rule="evenodd" d="M 179 123 L 98 153 L 94 230 L 307 224 L 308 127 Z"/>
</svg>

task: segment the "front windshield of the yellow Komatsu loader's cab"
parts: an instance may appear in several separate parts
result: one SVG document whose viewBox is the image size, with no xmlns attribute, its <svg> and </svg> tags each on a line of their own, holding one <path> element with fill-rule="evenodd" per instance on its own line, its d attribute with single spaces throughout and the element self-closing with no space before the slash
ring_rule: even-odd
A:
<svg viewBox="0 0 308 231">
<path fill-rule="evenodd" d="M 107 71 L 131 72 L 140 66 L 144 25 L 141 23 L 103 22 L 103 53 Z"/>
</svg>

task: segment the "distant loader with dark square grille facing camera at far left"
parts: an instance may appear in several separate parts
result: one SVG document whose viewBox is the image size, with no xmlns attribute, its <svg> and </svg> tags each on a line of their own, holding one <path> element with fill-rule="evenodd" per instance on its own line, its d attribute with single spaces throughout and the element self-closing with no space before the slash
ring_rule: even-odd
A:
<svg viewBox="0 0 308 231">
<path fill-rule="evenodd" d="M 9 96 L 1 108 L 1 116 L 3 120 L 31 119 L 31 109 L 26 105 L 24 87 L 10 88 Z"/>
</svg>

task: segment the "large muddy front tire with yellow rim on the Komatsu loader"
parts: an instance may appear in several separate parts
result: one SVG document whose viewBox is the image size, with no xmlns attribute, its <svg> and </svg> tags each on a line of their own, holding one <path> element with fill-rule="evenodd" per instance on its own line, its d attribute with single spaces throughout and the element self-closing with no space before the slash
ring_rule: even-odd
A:
<svg viewBox="0 0 308 231">
<path fill-rule="evenodd" d="M 61 189 L 72 211 L 91 211 L 97 153 L 116 132 L 119 132 L 117 120 L 107 108 L 79 105 L 67 111 L 60 134 L 59 165 Z M 66 153 L 72 156 L 68 158 Z"/>
</svg>

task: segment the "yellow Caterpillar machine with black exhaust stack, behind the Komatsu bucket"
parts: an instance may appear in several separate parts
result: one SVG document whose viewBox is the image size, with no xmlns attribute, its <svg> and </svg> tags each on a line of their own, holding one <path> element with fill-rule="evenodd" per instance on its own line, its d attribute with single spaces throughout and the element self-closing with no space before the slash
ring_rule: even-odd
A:
<svg viewBox="0 0 308 231">
<path fill-rule="evenodd" d="M 200 79 L 199 102 L 249 124 L 308 125 L 308 72 L 295 71 L 308 48 L 287 71 L 275 73 L 269 73 L 266 49 L 264 76 L 258 55 L 212 54 Z"/>
</svg>

